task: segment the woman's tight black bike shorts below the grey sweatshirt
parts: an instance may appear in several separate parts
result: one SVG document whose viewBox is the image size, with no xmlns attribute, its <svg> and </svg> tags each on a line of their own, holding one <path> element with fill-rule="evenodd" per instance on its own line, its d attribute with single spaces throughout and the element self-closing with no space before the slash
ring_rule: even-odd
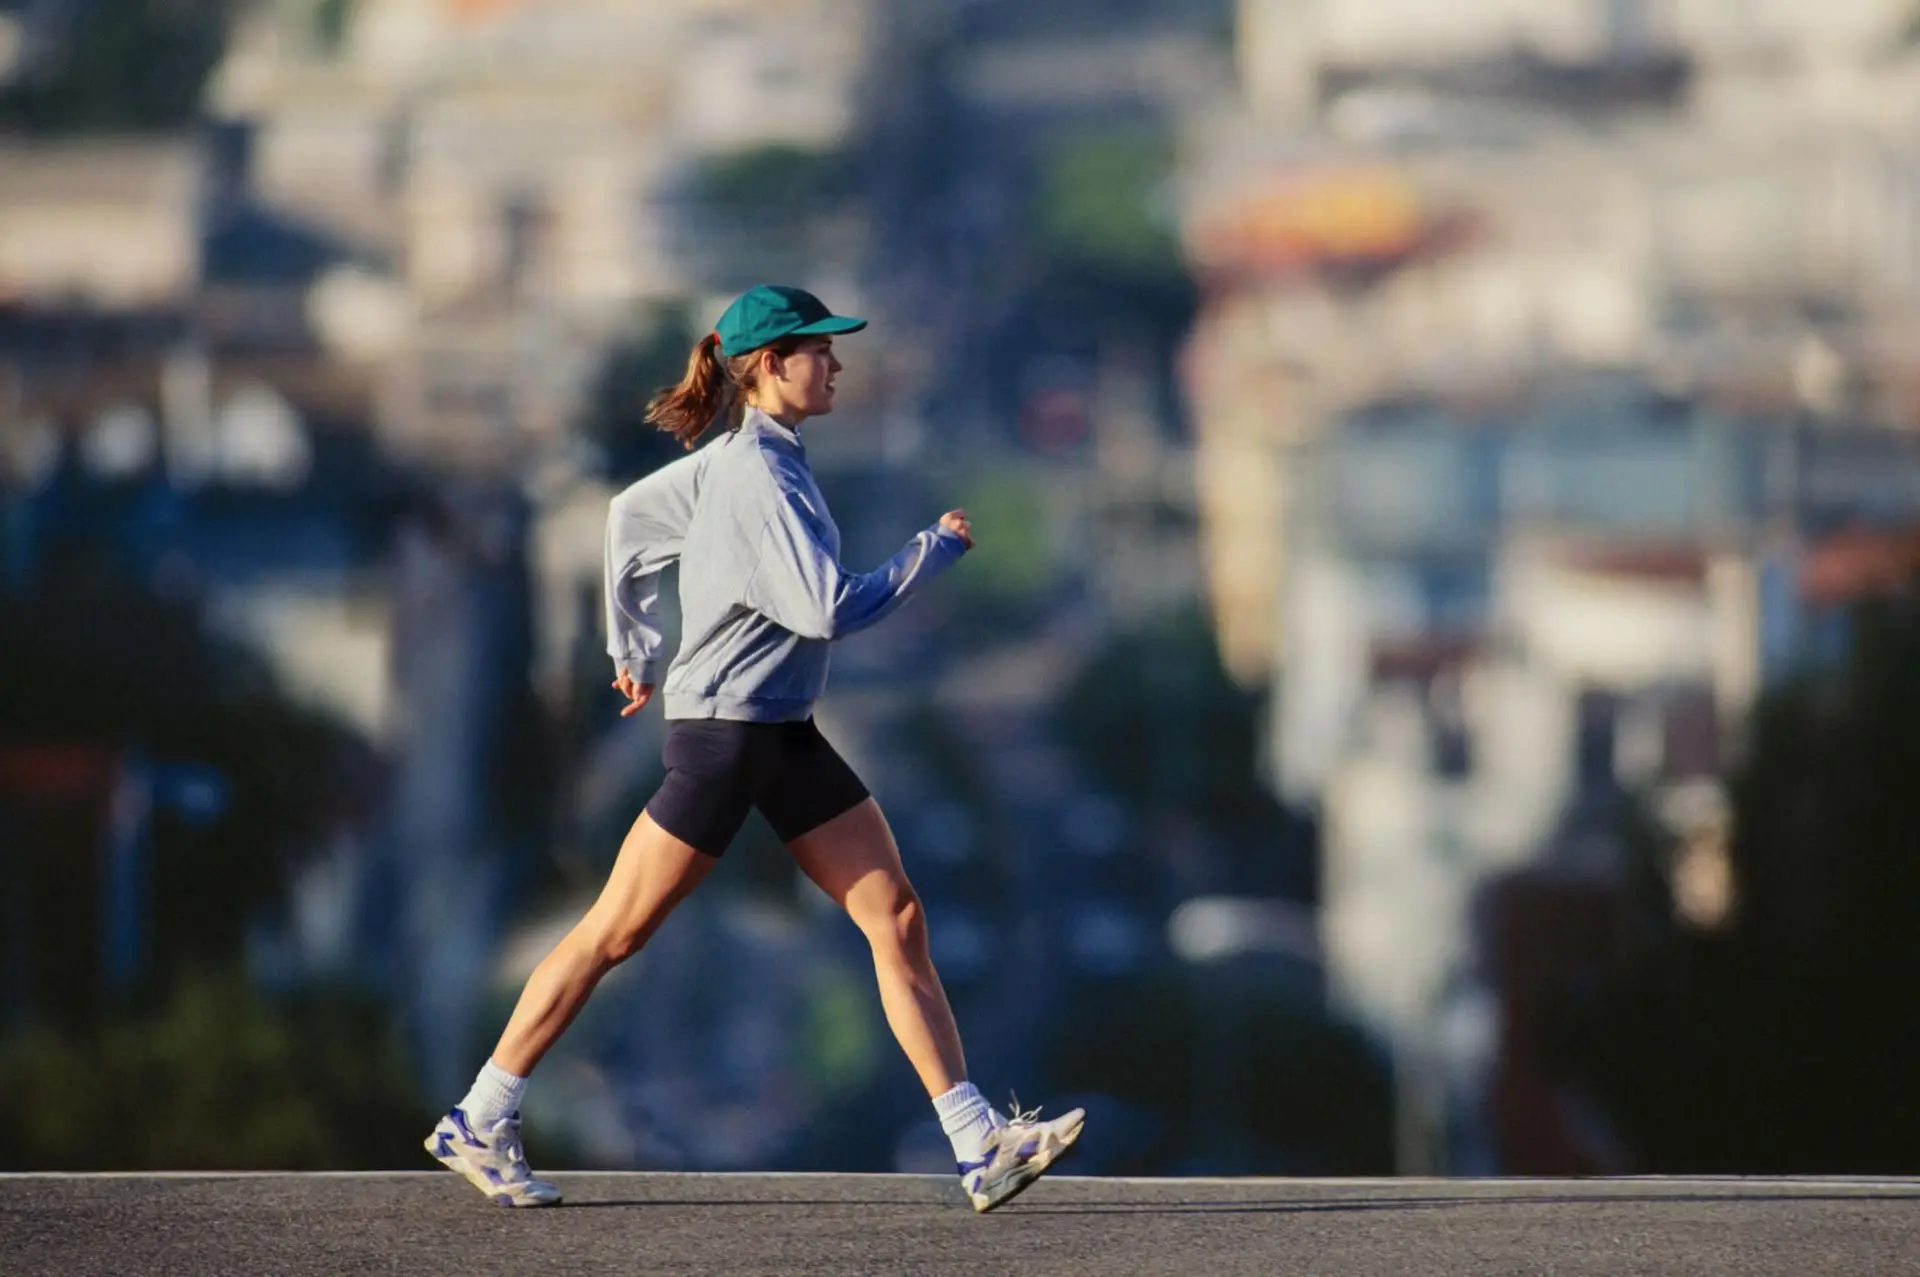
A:
<svg viewBox="0 0 1920 1277">
<path fill-rule="evenodd" d="M 760 808 L 791 843 L 868 799 L 847 760 L 806 722 L 676 718 L 660 747 L 666 780 L 647 814 L 695 851 L 718 856 Z"/>
</svg>

